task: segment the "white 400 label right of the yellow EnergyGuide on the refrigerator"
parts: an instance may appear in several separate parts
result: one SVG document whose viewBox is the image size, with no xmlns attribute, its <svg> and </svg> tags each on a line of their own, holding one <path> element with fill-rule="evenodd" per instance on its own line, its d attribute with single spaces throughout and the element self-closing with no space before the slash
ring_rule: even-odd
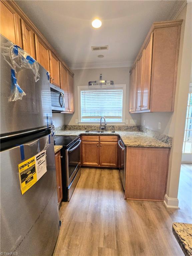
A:
<svg viewBox="0 0 192 256">
<path fill-rule="evenodd" d="M 41 151 L 39 154 L 35 156 L 35 165 L 37 172 L 37 180 L 39 180 L 47 171 L 46 150 Z"/>
</svg>

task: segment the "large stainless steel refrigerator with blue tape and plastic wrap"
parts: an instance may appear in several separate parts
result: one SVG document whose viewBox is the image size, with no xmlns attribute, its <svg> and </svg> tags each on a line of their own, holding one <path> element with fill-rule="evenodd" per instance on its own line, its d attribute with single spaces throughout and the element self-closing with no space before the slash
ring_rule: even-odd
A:
<svg viewBox="0 0 192 256">
<path fill-rule="evenodd" d="M 1 46 L 8 42 L 3 36 L 0 39 Z M 0 251 L 51 256 L 59 233 L 59 217 L 47 71 L 39 65 L 40 80 L 35 82 L 32 70 L 19 70 L 17 82 L 26 96 L 8 101 L 11 67 L 2 54 L 0 60 Z M 21 194 L 18 166 L 42 150 L 46 150 L 47 171 Z"/>
</svg>

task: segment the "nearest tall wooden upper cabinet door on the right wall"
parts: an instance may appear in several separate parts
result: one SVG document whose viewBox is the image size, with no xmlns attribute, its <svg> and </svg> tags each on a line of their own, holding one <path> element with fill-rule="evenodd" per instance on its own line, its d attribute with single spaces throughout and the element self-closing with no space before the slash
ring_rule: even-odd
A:
<svg viewBox="0 0 192 256">
<path fill-rule="evenodd" d="M 152 41 L 153 41 L 153 37 L 151 35 L 148 44 L 144 48 L 141 110 L 149 109 L 150 88 L 151 88 Z"/>
</svg>

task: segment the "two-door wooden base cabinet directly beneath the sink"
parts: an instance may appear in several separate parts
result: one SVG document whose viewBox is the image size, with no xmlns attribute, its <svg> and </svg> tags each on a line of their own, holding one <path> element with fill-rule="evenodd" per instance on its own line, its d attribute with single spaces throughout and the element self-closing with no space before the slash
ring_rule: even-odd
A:
<svg viewBox="0 0 192 256">
<path fill-rule="evenodd" d="M 81 165 L 118 167 L 117 136 L 82 136 Z"/>
</svg>

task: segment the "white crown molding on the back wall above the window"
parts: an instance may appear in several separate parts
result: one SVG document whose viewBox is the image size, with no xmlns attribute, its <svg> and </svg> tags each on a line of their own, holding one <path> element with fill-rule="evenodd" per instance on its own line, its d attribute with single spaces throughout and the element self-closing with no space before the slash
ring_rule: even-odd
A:
<svg viewBox="0 0 192 256">
<path fill-rule="evenodd" d="M 105 63 L 96 63 L 96 62 L 87 62 L 87 63 L 73 63 L 68 64 L 69 68 L 74 69 L 92 69 L 92 68 L 124 68 L 132 67 L 134 61 L 125 61 L 125 62 L 105 62 Z"/>
</svg>

